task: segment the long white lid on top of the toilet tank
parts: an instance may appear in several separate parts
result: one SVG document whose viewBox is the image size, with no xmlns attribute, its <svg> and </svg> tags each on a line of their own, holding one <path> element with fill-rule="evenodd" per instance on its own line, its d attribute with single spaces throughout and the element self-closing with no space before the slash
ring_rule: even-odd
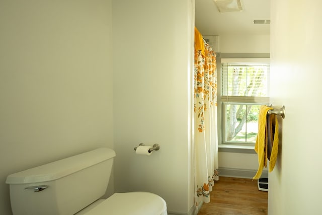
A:
<svg viewBox="0 0 322 215">
<path fill-rule="evenodd" d="M 90 152 L 11 174 L 7 177 L 6 183 L 29 184 L 53 181 L 114 158 L 115 155 L 116 154 L 112 149 L 99 148 Z"/>
</svg>

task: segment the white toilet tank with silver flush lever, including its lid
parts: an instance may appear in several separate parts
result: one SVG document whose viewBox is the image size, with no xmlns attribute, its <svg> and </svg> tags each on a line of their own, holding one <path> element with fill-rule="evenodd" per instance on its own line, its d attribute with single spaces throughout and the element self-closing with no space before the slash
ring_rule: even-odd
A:
<svg viewBox="0 0 322 215">
<path fill-rule="evenodd" d="M 13 214 L 76 213 L 105 194 L 114 157 L 100 148 L 9 175 Z"/>
</svg>

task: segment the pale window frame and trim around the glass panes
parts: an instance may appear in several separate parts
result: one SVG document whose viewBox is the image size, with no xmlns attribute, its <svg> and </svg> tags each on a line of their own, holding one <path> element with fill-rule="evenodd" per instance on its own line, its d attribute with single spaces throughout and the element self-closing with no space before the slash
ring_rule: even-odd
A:
<svg viewBox="0 0 322 215">
<path fill-rule="evenodd" d="M 226 62 L 270 62 L 269 53 L 217 53 L 217 123 L 218 123 L 218 144 L 219 151 L 222 152 L 237 152 L 237 153 L 255 153 L 254 145 L 246 142 L 225 142 L 225 120 L 223 110 L 225 103 L 243 103 L 243 104 L 254 104 L 254 105 L 268 105 L 270 98 L 268 97 L 247 97 L 247 100 L 238 96 L 222 96 L 221 95 L 221 63 Z M 268 85 L 269 88 L 269 85 Z M 269 89 L 268 89 L 269 92 Z M 229 98 L 229 100 L 227 100 Z"/>
</svg>

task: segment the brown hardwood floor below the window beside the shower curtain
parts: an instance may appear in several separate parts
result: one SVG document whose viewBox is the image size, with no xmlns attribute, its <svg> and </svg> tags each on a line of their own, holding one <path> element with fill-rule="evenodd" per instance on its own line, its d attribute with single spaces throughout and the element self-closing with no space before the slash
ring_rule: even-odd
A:
<svg viewBox="0 0 322 215">
<path fill-rule="evenodd" d="M 204 203 L 198 215 L 267 214 L 268 192 L 259 191 L 257 180 L 220 177 L 210 193 L 210 203 Z"/>
</svg>

